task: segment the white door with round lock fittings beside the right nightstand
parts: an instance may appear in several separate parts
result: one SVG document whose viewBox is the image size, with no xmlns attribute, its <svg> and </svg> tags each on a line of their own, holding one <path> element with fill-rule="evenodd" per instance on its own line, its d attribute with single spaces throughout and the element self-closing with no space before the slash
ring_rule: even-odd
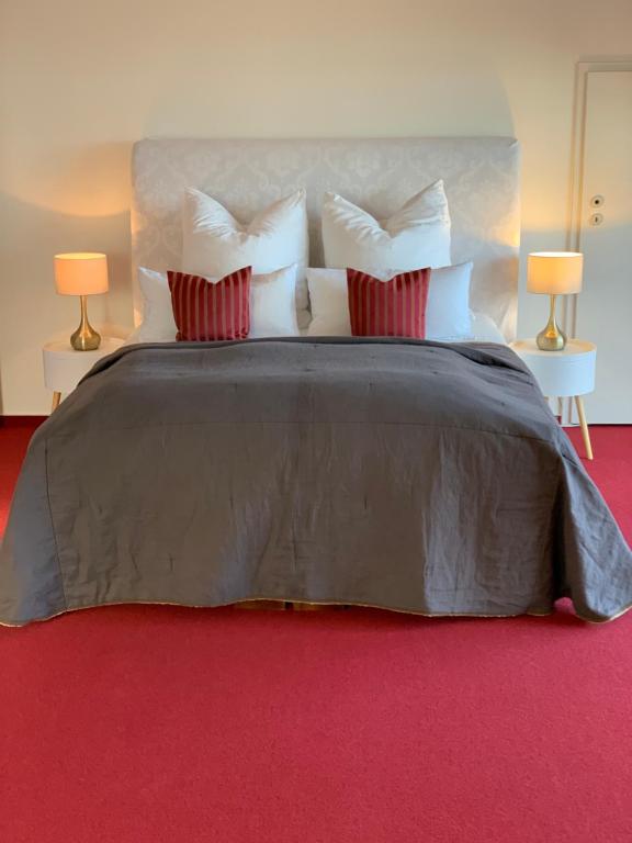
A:
<svg viewBox="0 0 632 843">
<path fill-rule="evenodd" d="M 632 424 L 632 71 L 587 75 L 576 336 L 597 344 L 588 423 Z"/>
</svg>

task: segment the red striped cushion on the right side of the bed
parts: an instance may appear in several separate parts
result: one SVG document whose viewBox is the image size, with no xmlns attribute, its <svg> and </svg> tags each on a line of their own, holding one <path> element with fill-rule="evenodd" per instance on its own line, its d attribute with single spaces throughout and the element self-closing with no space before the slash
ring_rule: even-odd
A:
<svg viewBox="0 0 632 843">
<path fill-rule="evenodd" d="M 359 269 L 347 270 L 351 334 L 354 337 L 426 337 L 430 270 L 402 272 L 380 281 Z"/>
</svg>

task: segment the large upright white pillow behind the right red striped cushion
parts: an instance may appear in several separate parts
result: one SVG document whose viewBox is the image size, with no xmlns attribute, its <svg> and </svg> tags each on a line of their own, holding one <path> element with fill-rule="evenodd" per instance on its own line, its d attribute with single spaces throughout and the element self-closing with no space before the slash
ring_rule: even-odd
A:
<svg viewBox="0 0 632 843">
<path fill-rule="evenodd" d="M 337 193 L 326 193 L 323 245 L 326 266 L 339 269 L 375 272 L 448 266 L 450 212 L 443 182 L 430 184 L 381 221 Z"/>
</svg>

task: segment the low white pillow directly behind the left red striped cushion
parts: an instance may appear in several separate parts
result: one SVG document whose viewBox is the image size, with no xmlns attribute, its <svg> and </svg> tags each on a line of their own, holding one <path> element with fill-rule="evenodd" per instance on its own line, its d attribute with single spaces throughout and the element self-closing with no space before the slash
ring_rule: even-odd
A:
<svg viewBox="0 0 632 843">
<path fill-rule="evenodd" d="M 250 283 L 249 337 L 294 337 L 298 335 L 296 323 L 296 265 L 275 272 L 252 276 Z M 208 278 L 217 283 L 219 278 Z M 143 293 L 143 322 L 127 338 L 133 342 L 172 342 L 178 328 L 171 307 L 171 293 L 166 272 L 138 269 Z"/>
</svg>

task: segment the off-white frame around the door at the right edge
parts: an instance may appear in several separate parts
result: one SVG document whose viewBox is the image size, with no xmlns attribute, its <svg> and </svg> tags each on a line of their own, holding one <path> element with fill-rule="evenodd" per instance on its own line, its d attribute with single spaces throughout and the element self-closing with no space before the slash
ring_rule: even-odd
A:
<svg viewBox="0 0 632 843">
<path fill-rule="evenodd" d="M 589 74 L 632 72 L 632 56 L 616 58 L 583 59 L 575 65 L 575 98 L 573 103 L 573 130 L 571 147 L 571 189 L 568 191 L 568 226 L 566 248 L 578 251 L 582 234 L 582 205 L 584 201 L 584 147 L 586 139 L 586 92 Z M 564 296 L 562 324 L 569 337 L 577 329 L 577 295 Z M 563 425 L 574 422 L 574 403 L 571 398 L 560 401 Z"/>
</svg>

